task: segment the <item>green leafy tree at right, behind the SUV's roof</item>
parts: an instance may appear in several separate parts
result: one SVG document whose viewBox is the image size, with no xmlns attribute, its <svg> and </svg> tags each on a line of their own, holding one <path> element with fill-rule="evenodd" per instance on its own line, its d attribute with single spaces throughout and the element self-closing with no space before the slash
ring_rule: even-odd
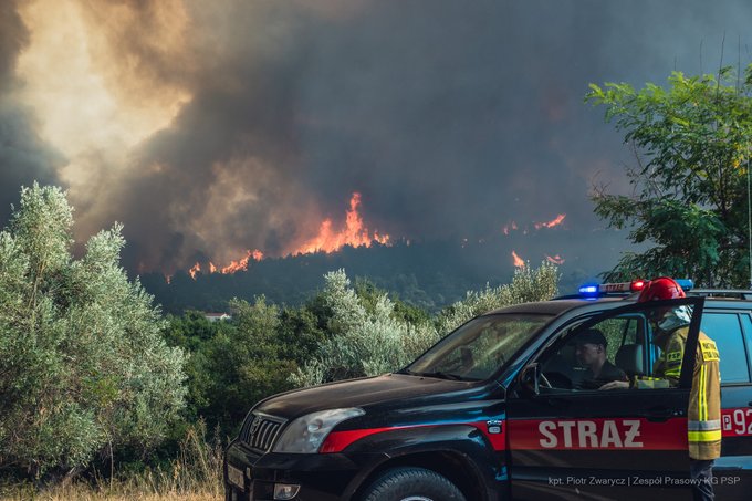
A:
<svg viewBox="0 0 752 501">
<path fill-rule="evenodd" d="M 707 286 L 746 285 L 748 169 L 752 154 L 752 65 L 713 75 L 673 72 L 668 88 L 647 84 L 591 84 L 585 100 L 606 106 L 637 167 L 634 192 L 597 189 L 595 211 L 614 228 L 633 228 L 635 243 L 607 280 L 669 274 Z"/>
</svg>

